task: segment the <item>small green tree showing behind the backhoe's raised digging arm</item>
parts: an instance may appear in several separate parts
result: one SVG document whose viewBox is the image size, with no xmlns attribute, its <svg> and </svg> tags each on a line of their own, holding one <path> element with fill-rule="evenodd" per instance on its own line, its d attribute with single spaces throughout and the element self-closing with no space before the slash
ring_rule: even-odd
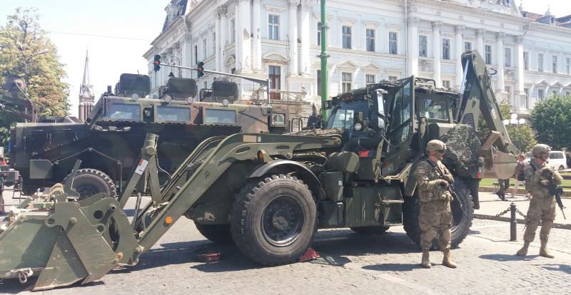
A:
<svg viewBox="0 0 571 295">
<path fill-rule="evenodd" d="M 510 113 L 512 111 L 511 105 L 500 105 L 500 112 L 502 113 L 502 118 L 507 119 L 510 118 Z M 487 127 L 485 120 L 480 117 L 480 121 L 478 122 L 478 128 L 480 133 L 483 135 L 482 140 L 490 136 L 491 131 L 490 128 Z M 533 146 L 537 143 L 533 136 L 533 131 L 530 125 L 507 125 L 507 134 L 510 135 L 510 139 L 512 143 L 519 149 L 521 152 L 526 152 L 531 150 Z"/>
</svg>

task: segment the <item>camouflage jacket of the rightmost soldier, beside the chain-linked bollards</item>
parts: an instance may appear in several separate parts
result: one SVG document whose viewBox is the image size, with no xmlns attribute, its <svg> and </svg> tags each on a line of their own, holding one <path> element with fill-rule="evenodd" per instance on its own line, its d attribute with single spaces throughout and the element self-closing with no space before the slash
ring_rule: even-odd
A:
<svg viewBox="0 0 571 295">
<path fill-rule="evenodd" d="M 551 165 L 539 165 L 534 159 L 525 164 L 525 190 L 533 197 L 552 197 L 549 195 L 550 179 L 561 185 L 563 178 Z"/>
</svg>

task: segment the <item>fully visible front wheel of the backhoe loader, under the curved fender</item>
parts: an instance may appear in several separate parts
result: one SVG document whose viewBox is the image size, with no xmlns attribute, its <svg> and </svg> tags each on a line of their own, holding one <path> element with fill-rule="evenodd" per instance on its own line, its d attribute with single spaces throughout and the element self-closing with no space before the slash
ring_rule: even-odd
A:
<svg viewBox="0 0 571 295">
<path fill-rule="evenodd" d="M 263 265 L 288 264 L 301 257 L 317 230 L 311 191 L 290 175 L 251 182 L 236 196 L 230 229 L 244 256 Z"/>
</svg>

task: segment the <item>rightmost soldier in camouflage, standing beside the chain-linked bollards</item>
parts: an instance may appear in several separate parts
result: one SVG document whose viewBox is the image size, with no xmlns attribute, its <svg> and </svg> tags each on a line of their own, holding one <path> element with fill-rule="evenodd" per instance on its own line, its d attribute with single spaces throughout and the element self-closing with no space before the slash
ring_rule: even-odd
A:
<svg viewBox="0 0 571 295">
<path fill-rule="evenodd" d="M 549 194 L 548 186 L 550 179 L 557 185 L 560 185 L 563 179 L 557 170 L 545 164 L 545 161 L 549 159 L 549 151 L 549 145 L 535 145 L 532 149 L 533 158 L 524 167 L 525 190 L 532 195 L 532 200 L 525 217 L 524 244 L 522 249 L 516 253 L 519 256 L 527 254 L 527 248 L 535 239 L 535 230 L 541 220 L 540 256 L 553 258 L 553 255 L 547 251 L 547 239 L 549 239 L 549 232 L 555 220 L 555 197 Z"/>
</svg>

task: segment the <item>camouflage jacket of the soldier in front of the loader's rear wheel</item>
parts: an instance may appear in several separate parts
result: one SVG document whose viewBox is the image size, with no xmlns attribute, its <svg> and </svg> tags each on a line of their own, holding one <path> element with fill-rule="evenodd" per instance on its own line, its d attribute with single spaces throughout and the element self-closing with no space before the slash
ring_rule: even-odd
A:
<svg viewBox="0 0 571 295">
<path fill-rule="evenodd" d="M 443 175 L 440 175 L 436 166 L 440 168 Z M 453 183 L 454 178 L 442 162 L 438 161 L 436 165 L 433 165 L 428 159 L 420 161 L 415 175 L 420 202 L 452 199 L 452 195 L 448 192 L 448 184 Z"/>
</svg>

